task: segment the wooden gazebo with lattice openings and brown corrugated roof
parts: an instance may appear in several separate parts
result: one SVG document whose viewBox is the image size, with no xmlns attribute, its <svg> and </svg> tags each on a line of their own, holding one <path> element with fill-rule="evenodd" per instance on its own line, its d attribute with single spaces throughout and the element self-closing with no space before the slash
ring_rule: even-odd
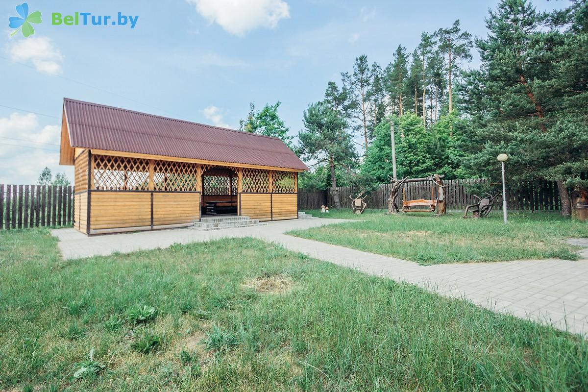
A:
<svg viewBox="0 0 588 392">
<path fill-rule="evenodd" d="M 282 140 L 64 99 L 61 165 L 75 166 L 74 227 L 88 235 L 191 226 L 209 206 L 298 218 L 298 173 Z"/>
</svg>

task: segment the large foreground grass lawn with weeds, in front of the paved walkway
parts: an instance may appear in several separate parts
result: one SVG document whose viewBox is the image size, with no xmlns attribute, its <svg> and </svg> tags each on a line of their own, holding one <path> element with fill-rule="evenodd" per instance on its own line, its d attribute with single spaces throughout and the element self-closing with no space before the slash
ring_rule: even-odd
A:
<svg viewBox="0 0 588 392">
<path fill-rule="evenodd" d="M 8 391 L 588 386 L 578 336 L 252 239 L 62 260 L 47 230 L 1 232 L 0 315 Z"/>
</svg>

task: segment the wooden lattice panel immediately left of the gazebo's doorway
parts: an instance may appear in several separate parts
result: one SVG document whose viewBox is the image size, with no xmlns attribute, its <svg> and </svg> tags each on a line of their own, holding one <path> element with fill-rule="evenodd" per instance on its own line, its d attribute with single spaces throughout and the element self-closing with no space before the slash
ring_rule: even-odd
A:
<svg viewBox="0 0 588 392">
<path fill-rule="evenodd" d="M 198 165 L 188 162 L 156 160 L 153 164 L 153 189 L 190 192 L 199 190 Z"/>
</svg>

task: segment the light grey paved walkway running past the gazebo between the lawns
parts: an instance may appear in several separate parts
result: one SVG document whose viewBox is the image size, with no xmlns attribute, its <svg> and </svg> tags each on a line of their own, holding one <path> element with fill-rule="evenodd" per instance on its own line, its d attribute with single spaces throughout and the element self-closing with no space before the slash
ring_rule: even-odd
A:
<svg viewBox="0 0 588 392">
<path fill-rule="evenodd" d="M 465 297 L 487 309 L 588 336 L 588 249 L 580 253 L 582 260 L 576 262 L 548 259 L 419 266 L 395 257 L 283 234 L 340 222 L 340 219 L 312 218 L 211 232 L 175 229 L 95 237 L 86 237 L 74 229 L 56 229 L 52 233 L 59 238 L 59 249 L 66 259 L 155 249 L 173 243 L 255 237 L 326 262 L 417 284 L 447 297 Z M 588 248 L 588 239 L 573 239 L 570 243 Z"/>
</svg>

